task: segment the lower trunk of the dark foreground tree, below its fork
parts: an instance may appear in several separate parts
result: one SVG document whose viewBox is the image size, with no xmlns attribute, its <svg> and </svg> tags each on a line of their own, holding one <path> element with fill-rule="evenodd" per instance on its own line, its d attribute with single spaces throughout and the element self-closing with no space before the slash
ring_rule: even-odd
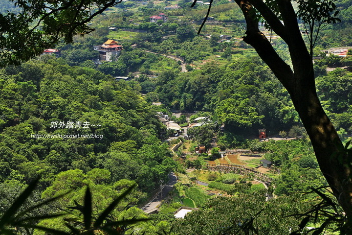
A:
<svg viewBox="0 0 352 235">
<path fill-rule="evenodd" d="M 307 130 L 320 169 L 344 211 L 352 216 L 351 172 L 347 167 L 351 160 L 337 148 L 341 141 L 320 104 L 315 86 L 298 84 L 294 90 L 292 102 Z"/>
</svg>

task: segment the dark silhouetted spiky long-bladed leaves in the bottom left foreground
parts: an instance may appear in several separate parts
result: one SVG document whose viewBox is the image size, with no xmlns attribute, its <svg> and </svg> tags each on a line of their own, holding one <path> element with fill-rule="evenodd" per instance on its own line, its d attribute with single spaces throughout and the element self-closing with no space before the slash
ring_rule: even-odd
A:
<svg viewBox="0 0 352 235">
<path fill-rule="evenodd" d="M 72 209 L 73 211 L 62 210 L 65 212 L 42 214 L 37 216 L 28 215 L 31 211 L 63 197 L 68 193 L 67 192 L 65 194 L 47 199 L 39 204 L 28 207 L 24 211 L 19 212 L 20 208 L 23 207 L 25 201 L 36 188 L 38 181 L 39 179 L 36 179 L 31 182 L 28 187 L 25 188 L 24 191 L 16 198 L 12 205 L 4 213 L 1 214 L 0 234 L 18 235 L 19 229 L 23 229 L 27 232 L 27 234 L 30 234 L 30 230 L 36 229 L 52 235 L 95 235 L 96 233 L 124 235 L 126 231 L 134 227 L 133 224 L 148 220 L 148 218 L 135 217 L 132 219 L 123 218 L 122 220 L 117 220 L 117 218 L 112 213 L 116 206 L 121 202 L 121 200 L 124 199 L 132 191 L 135 185 L 127 188 L 121 195 L 113 200 L 107 208 L 98 214 L 93 214 L 92 196 L 88 187 L 85 193 L 84 205 L 80 205 L 75 201 L 75 207 L 67 208 Z M 128 206 L 126 207 L 126 210 L 127 209 L 129 209 Z M 78 211 L 79 214 L 76 215 L 74 211 Z M 48 228 L 47 226 L 41 226 L 38 224 L 38 222 L 41 220 L 59 218 L 67 214 L 70 214 L 71 217 L 63 218 L 63 220 L 65 221 L 65 226 L 69 232 Z"/>
</svg>

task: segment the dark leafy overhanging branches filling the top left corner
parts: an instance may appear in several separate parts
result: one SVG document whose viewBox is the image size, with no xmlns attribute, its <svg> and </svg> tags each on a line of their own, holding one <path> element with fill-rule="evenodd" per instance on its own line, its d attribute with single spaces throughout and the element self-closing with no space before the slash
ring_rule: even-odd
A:
<svg viewBox="0 0 352 235">
<path fill-rule="evenodd" d="M 94 29 L 87 23 L 116 0 L 18 0 L 16 12 L 0 14 L 0 67 L 19 64 L 43 53 L 60 40 Z"/>
</svg>

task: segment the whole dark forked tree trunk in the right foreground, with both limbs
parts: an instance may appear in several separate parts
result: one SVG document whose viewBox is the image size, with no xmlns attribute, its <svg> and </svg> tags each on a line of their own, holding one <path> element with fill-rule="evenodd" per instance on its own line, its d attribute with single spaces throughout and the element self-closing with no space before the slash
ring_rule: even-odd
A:
<svg viewBox="0 0 352 235">
<path fill-rule="evenodd" d="M 311 56 L 307 50 L 297 23 L 296 13 L 289 0 L 278 0 L 282 24 L 263 0 L 235 0 L 246 19 L 247 31 L 243 41 L 254 47 L 291 96 L 306 130 L 320 169 L 335 197 L 349 217 L 352 217 L 351 163 L 346 154 L 337 154 L 337 145 L 342 145 L 335 128 L 324 112 L 315 89 Z M 253 19 L 253 6 L 261 13 L 271 28 L 286 42 L 289 48 L 293 71 L 276 53 L 270 42 Z"/>
</svg>

